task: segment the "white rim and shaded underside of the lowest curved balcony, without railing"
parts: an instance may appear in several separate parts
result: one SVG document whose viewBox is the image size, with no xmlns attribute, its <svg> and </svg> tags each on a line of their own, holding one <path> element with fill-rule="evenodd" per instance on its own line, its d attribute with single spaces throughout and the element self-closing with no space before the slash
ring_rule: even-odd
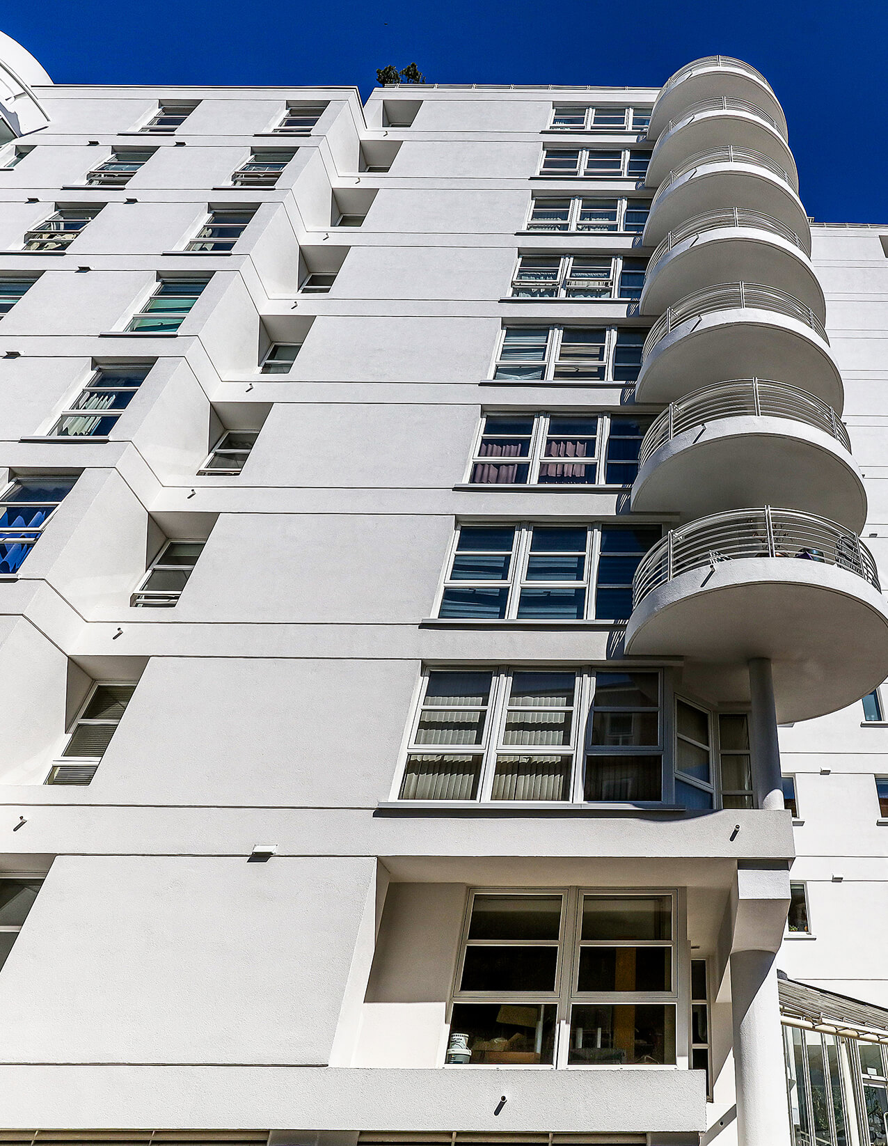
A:
<svg viewBox="0 0 888 1146">
<path fill-rule="evenodd" d="M 653 589 L 626 633 L 631 656 L 683 656 L 685 682 L 748 700 L 747 661 L 773 662 L 780 723 L 854 704 L 888 677 L 880 592 L 835 565 L 793 557 L 714 560 Z M 690 684 L 689 684 L 690 686 Z"/>
</svg>

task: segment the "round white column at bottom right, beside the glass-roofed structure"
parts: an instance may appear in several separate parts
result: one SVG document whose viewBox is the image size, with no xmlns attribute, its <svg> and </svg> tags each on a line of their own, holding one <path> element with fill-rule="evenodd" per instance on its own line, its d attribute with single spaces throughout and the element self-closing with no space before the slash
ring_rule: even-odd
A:
<svg viewBox="0 0 888 1146">
<path fill-rule="evenodd" d="M 791 1146 L 776 956 L 731 956 L 738 1146 Z"/>
</svg>

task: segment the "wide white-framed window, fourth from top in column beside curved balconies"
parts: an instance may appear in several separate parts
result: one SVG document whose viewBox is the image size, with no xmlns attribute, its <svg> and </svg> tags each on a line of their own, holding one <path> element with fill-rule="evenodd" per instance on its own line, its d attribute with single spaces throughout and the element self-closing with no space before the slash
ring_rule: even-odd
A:
<svg viewBox="0 0 888 1146">
<path fill-rule="evenodd" d="M 624 256 L 524 254 L 512 281 L 512 298 L 642 297 L 647 259 Z"/>
</svg>

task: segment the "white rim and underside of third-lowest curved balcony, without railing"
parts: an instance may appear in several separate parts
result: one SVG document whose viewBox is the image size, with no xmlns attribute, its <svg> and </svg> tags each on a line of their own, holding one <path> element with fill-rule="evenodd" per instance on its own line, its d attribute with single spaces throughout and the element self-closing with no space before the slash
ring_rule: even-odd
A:
<svg viewBox="0 0 888 1146">
<path fill-rule="evenodd" d="M 673 402 L 725 378 L 779 378 L 839 413 L 843 391 L 830 347 L 806 323 L 773 311 L 715 311 L 682 322 L 645 355 L 639 402 Z"/>
</svg>

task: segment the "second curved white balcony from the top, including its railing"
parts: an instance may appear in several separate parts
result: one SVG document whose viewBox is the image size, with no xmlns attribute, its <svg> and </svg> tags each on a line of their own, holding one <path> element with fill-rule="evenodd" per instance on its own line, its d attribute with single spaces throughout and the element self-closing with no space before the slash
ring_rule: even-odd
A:
<svg viewBox="0 0 888 1146">
<path fill-rule="evenodd" d="M 690 155 L 725 144 L 767 155 L 786 170 L 799 189 L 795 159 L 773 117 L 749 100 L 724 95 L 701 100 L 669 120 L 651 152 L 647 182 L 655 187 Z"/>
</svg>

